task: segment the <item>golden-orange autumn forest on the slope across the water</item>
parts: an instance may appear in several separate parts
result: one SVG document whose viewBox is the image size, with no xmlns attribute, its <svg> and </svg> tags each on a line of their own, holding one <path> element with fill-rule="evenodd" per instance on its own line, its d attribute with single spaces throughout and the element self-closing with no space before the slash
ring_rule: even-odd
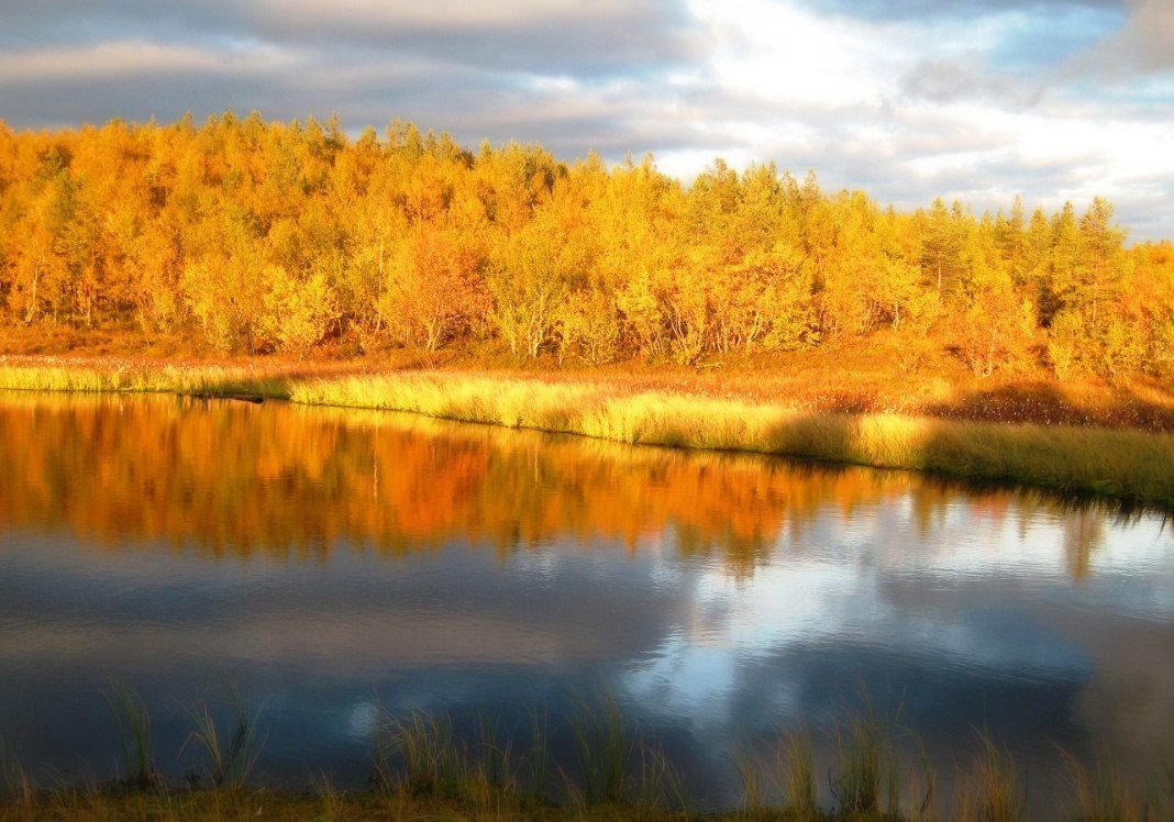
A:
<svg viewBox="0 0 1174 822">
<path fill-rule="evenodd" d="M 295 357 L 498 351 L 589 365 L 940 341 L 978 377 L 1174 377 L 1174 243 L 1094 198 L 900 213 L 774 164 L 689 186 L 394 121 L 0 121 L 0 326 Z"/>
</svg>

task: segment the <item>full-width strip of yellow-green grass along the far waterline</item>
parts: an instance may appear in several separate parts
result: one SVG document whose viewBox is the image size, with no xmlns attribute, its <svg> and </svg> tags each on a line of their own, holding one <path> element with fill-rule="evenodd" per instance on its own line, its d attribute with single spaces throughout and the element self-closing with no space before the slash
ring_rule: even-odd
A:
<svg viewBox="0 0 1174 822">
<path fill-rule="evenodd" d="M 0 365 L 0 388 L 168 392 L 406 411 L 630 444 L 789 454 L 1023 483 L 1174 508 L 1174 434 L 1092 425 L 844 413 L 677 392 L 637 380 L 465 371 L 345 373 L 322 364 L 46 359 Z"/>
</svg>

